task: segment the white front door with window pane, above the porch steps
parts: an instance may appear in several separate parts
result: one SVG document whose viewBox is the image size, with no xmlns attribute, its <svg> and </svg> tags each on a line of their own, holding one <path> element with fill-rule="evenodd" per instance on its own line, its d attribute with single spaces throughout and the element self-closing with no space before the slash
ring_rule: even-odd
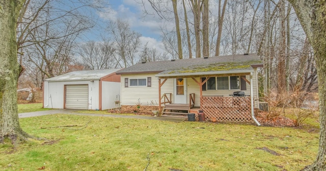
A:
<svg viewBox="0 0 326 171">
<path fill-rule="evenodd" d="M 186 79 L 177 78 L 174 80 L 174 103 L 186 104 Z"/>
</svg>

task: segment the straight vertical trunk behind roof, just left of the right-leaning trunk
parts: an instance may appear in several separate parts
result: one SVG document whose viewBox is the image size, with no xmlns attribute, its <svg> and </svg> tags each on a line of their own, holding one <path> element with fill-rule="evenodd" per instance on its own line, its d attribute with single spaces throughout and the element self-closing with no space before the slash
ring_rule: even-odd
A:
<svg viewBox="0 0 326 171">
<path fill-rule="evenodd" d="M 203 4 L 203 56 L 208 57 L 209 56 L 209 6 L 208 6 L 208 0 L 202 0 Z"/>
</svg>

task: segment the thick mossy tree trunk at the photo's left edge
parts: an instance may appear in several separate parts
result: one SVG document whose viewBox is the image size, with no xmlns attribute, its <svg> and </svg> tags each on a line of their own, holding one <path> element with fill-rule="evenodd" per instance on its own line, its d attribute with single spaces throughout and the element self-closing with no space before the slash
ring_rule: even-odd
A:
<svg viewBox="0 0 326 171">
<path fill-rule="evenodd" d="M 12 143 L 28 137 L 18 120 L 17 82 L 20 67 L 17 61 L 16 27 L 24 1 L 0 3 L 0 143 L 5 138 Z"/>
</svg>

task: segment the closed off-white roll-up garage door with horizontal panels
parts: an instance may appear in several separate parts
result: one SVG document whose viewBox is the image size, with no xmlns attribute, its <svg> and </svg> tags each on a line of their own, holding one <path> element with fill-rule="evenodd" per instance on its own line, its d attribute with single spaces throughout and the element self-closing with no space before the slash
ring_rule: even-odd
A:
<svg viewBox="0 0 326 171">
<path fill-rule="evenodd" d="M 88 85 L 66 85 L 66 109 L 88 109 Z"/>
</svg>

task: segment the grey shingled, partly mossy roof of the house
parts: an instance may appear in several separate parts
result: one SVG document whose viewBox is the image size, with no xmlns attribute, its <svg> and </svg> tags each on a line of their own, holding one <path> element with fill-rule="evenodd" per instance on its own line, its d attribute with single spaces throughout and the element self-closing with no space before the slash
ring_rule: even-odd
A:
<svg viewBox="0 0 326 171">
<path fill-rule="evenodd" d="M 117 71 L 117 74 L 157 73 L 156 77 L 227 74 L 250 72 L 253 71 L 253 67 L 261 65 L 262 61 L 257 54 L 241 54 L 138 63 Z"/>
</svg>

